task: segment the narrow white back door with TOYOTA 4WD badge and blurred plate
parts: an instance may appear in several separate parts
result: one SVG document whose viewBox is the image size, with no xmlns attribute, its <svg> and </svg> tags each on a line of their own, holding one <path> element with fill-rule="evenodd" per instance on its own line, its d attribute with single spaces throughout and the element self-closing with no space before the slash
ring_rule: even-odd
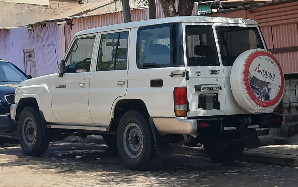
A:
<svg viewBox="0 0 298 187">
<path fill-rule="evenodd" d="M 213 24 L 184 23 L 184 58 L 188 72 L 187 116 L 224 115 L 224 71 L 218 58 Z"/>
</svg>

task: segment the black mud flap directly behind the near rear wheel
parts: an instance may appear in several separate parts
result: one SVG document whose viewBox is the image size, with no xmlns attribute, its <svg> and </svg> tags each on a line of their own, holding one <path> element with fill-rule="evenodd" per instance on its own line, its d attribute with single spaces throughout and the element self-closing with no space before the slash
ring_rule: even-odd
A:
<svg viewBox="0 0 298 187">
<path fill-rule="evenodd" d="M 154 140 L 157 154 L 161 157 L 172 156 L 173 149 L 171 146 L 170 136 L 159 134 L 152 118 L 150 118 L 150 117 L 149 117 L 149 123 L 150 123 L 151 132 L 153 135 L 153 140 Z"/>
</svg>

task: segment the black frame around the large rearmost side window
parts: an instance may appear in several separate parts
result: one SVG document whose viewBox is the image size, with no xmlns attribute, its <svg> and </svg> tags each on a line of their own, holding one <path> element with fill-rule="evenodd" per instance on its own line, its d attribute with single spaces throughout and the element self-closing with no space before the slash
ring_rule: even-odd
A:
<svg viewBox="0 0 298 187">
<path fill-rule="evenodd" d="M 148 29 L 155 29 L 155 28 L 162 28 L 162 27 L 170 27 L 170 63 L 172 62 L 172 64 L 174 64 L 174 60 L 181 61 L 180 65 L 172 65 L 172 66 L 158 66 L 158 67 L 140 67 L 139 63 L 138 63 L 138 43 L 139 43 L 139 33 L 141 30 L 148 30 Z M 180 29 L 180 32 L 179 30 Z M 175 32 L 175 33 L 173 33 Z M 179 35 L 178 35 L 179 34 Z M 173 44 L 173 35 L 175 36 L 175 43 Z M 177 38 L 181 37 L 181 41 L 179 44 L 179 40 L 177 41 Z M 181 55 L 181 53 L 183 52 L 183 32 L 182 32 L 182 23 L 181 22 L 173 22 L 173 23 L 164 23 L 164 24 L 156 24 L 156 25 L 149 25 L 149 26 L 143 26 L 143 27 L 139 27 L 137 29 L 136 32 L 136 67 L 138 69 L 152 69 L 152 68 L 171 68 L 171 67 L 184 67 L 184 56 Z M 171 40 L 172 39 L 172 40 Z M 145 40 L 144 44 L 146 44 L 148 41 Z M 145 47 L 144 47 L 145 48 Z M 143 48 L 143 50 L 144 50 Z M 180 52 L 177 52 L 177 48 L 178 50 L 181 50 Z M 175 49 L 175 51 L 174 51 Z M 174 51 L 174 52 L 173 52 Z M 175 55 L 176 54 L 176 55 Z"/>
</svg>

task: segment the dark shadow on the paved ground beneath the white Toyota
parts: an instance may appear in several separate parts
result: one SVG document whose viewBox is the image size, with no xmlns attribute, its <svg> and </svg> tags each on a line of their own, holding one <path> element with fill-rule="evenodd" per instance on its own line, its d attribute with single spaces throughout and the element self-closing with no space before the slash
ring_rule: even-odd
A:
<svg viewBox="0 0 298 187">
<path fill-rule="evenodd" d="M 59 173 L 76 173 L 78 171 L 114 171 L 130 173 L 150 172 L 196 172 L 205 171 L 210 173 L 226 172 L 241 169 L 243 164 L 248 163 L 215 163 L 210 159 L 186 155 L 174 155 L 168 158 L 156 158 L 155 164 L 150 171 L 131 171 L 122 163 L 117 151 L 109 149 L 106 145 L 90 143 L 51 143 L 48 151 L 41 157 L 25 155 L 21 148 L 0 148 L 0 154 L 14 155 L 15 159 L 0 163 L 0 166 L 34 165 L 35 169 L 55 169 Z M 5 157 L 5 156 L 4 156 Z"/>
</svg>

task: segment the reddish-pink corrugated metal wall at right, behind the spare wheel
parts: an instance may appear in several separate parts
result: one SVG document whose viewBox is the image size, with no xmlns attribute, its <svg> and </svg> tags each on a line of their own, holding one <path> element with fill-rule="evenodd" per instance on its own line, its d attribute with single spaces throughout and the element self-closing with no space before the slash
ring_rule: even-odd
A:
<svg viewBox="0 0 298 187">
<path fill-rule="evenodd" d="M 268 49 L 275 50 L 284 73 L 298 72 L 298 51 L 284 52 L 287 47 L 298 47 L 298 1 L 212 16 L 254 19 L 260 24 Z"/>
</svg>

